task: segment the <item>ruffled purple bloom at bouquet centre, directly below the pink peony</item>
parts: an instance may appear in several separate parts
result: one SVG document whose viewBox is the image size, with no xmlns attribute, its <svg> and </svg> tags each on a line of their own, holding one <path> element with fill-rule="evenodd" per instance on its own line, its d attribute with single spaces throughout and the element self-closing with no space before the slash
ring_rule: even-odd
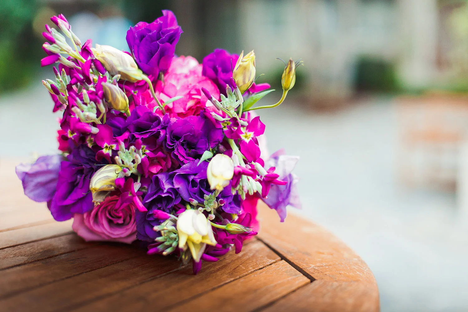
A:
<svg viewBox="0 0 468 312">
<path fill-rule="evenodd" d="M 199 159 L 210 148 L 221 143 L 223 130 L 208 118 L 189 116 L 176 118 L 168 127 L 166 147 L 181 164 Z"/>
</svg>

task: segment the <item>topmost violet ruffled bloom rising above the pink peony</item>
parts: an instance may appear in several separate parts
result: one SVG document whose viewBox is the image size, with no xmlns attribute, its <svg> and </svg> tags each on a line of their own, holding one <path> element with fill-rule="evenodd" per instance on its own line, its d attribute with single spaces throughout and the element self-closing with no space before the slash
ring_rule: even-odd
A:
<svg viewBox="0 0 468 312">
<path fill-rule="evenodd" d="M 176 44 L 182 34 L 176 15 L 162 10 L 163 16 L 154 22 L 139 22 L 127 31 L 127 44 L 139 68 L 147 75 L 158 77 L 165 72 L 176 51 Z"/>
</svg>

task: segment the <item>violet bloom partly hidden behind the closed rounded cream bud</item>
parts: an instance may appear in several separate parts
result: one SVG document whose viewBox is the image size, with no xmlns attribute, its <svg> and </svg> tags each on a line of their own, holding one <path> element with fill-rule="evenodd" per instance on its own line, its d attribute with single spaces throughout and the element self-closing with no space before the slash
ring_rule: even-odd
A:
<svg viewBox="0 0 468 312">
<path fill-rule="evenodd" d="M 207 168 L 208 162 L 203 161 L 198 165 L 198 160 L 195 160 L 183 165 L 169 175 L 174 181 L 174 187 L 184 201 L 190 202 L 190 198 L 192 198 L 199 203 L 203 203 L 205 201 L 204 196 L 213 193 L 206 177 Z M 224 204 L 219 209 L 227 213 L 239 213 L 241 210 L 241 196 L 232 194 L 231 185 L 225 187 L 218 198 L 224 200 Z"/>
</svg>

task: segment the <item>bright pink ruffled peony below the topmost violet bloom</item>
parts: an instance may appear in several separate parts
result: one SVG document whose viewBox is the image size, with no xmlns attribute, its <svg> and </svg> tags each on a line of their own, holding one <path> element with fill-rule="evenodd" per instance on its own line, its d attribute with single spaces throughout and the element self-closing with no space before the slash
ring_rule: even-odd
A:
<svg viewBox="0 0 468 312">
<path fill-rule="evenodd" d="M 161 102 L 166 102 L 175 96 L 183 96 L 182 99 L 169 103 L 165 107 L 171 117 L 198 116 L 205 107 L 209 111 L 218 110 L 208 101 L 201 88 L 205 87 L 215 98 L 219 98 L 219 89 L 201 73 L 202 65 L 198 64 L 195 58 L 180 56 L 173 59 L 164 75 L 164 83 L 162 81 L 156 83 L 156 96 L 161 99 Z M 150 103 L 148 96 L 151 94 L 145 94 L 146 103 Z M 153 102 L 151 104 L 154 105 Z"/>
</svg>

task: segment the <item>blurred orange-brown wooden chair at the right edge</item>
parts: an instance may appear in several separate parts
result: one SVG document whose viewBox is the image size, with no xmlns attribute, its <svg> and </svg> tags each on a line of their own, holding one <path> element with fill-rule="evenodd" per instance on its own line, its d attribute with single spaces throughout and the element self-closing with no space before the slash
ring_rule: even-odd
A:
<svg viewBox="0 0 468 312">
<path fill-rule="evenodd" d="M 412 188 L 455 191 L 460 145 L 468 129 L 468 97 L 427 94 L 395 101 L 400 180 Z"/>
</svg>

